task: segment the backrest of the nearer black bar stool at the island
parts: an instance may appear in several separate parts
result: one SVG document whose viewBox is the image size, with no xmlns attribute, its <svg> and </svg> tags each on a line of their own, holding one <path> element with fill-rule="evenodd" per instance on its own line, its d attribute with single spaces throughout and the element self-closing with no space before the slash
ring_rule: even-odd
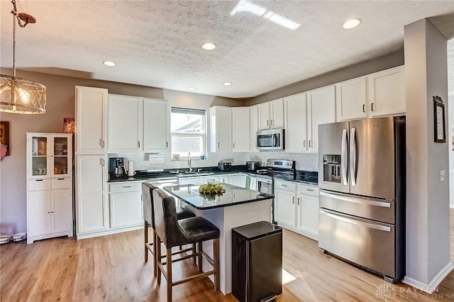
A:
<svg viewBox="0 0 454 302">
<path fill-rule="evenodd" d="M 167 248 L 183 245 L 187 239 L 178 225 L 175 198 L 168 196 L 161 189 L 154 189 L 153 205 L 156 234 Z"/>
</svg>

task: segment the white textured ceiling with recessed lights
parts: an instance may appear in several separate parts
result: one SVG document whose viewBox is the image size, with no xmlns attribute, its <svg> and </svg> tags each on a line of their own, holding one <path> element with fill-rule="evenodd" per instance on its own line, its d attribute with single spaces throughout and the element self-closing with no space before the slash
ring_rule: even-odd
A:
<svg viewBox="0 0 454 302">
<path fill-rule="evenodd" d="M 11 2 L 1 0 L 0 67 L 6 68 L 10 11 Z M 404 26 L 421 18 L 436 17 L 443 34 L 454 35 L 454 1 L 18 0 L 18 11 L 37 19 L 17 28 L 18 69 L 179 91 L 194 86 L 196 93 L 233 98 L 400 50 Z M 362 25 L 344 30 L 343 21 L 353 17 Z M 206 40 L 216 50 L 201 50 Z M 104 60 L 117 66 L 105 67 Z"/>
</svg>

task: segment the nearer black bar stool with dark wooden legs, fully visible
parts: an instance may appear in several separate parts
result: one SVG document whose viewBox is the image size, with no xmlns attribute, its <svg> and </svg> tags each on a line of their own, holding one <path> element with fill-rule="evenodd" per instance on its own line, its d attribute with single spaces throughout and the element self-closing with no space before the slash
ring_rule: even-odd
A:
<svg viewBox="0 0 454 302">
<path fill-rule="evenodd" d="M 175 198 L 167 196 L 162 190 L 155 189 L 153 191 L 153 204 L 155 209 L 155 233 L 157 235 L 156 247 L 157 257 L 161 259 L 161 241 L 164 243 L 166 251 L 165 262 L 157 262 L 157 284 L 161 283 L 161 272 L 167 280 L 167 301 L 172 301 L 172 286 L 192 281 L 196 278 L 214 275 L 214 289 L 219 290 L 219 229 L 216 228 L 208 220 L 195 217 L 178 220 L 175 207 Z M 172 280 L 172 247 L 179 245 L 199 243 L 206 240 L 213 240 L 214 259 L 211 259 L 206 253 L 199 248 L 195 254 L 187 255 L 173 262 L 199 257 L 199 274 L 188 276 L 186 278 L 173 281 Z M 202 272 L 201 257 L 213 266 L 213 270 Z M 164 265 L 166 269 L 164 269 Z"/>
</svg>

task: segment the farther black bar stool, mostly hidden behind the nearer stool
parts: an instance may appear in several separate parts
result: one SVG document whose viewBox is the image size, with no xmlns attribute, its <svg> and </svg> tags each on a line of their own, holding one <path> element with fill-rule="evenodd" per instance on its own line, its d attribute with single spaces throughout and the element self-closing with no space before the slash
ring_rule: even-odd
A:
<svg viewBox="0 0 454 302">
<path fill-rule="evenodd" d="M 157 276 L 157 260 L 156 260 L 156 232 L 155 232 L 155 211 L 153 207 L 153 190 L 157 189 L 157 186 L 153 186 L 148 182 L 142 183 L 142 198 L 143 198 L 143 239 L 145 242 L 145 262 L 148 262 L 148 251 L 153 255 L 153 276 Z M 181 206 L 177 207 L 177 219 L 184 219 L 195 217 L 196 215 L 189 211 L 187 208 Z M 153 240 L 148 242 L 148 226 L 151 225 L 153 228 Z M 178 252 L 187 252 L 192 249 L 185 249 Z"/>
</svg>

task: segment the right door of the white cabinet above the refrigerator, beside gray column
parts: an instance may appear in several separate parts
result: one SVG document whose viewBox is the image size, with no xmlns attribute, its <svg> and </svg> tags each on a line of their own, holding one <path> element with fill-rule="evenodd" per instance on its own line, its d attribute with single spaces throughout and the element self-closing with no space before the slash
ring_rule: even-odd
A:
<svg viewBox="0 0 454 302">
<path fill-rule="evenodd" d="M 404 67 L 394 67 L 367 76 L 370 116 L 405 113 Z"/>
</svg>

